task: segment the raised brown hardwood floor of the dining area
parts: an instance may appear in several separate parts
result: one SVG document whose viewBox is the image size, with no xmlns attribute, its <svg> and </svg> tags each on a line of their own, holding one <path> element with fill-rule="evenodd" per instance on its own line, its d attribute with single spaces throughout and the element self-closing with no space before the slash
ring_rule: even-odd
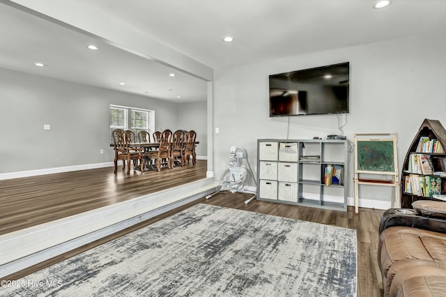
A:
<svg viewBox="0 0 446 297">
<path fill-rule="evenodd" d="M 121 163 L 121 162 L 120 162 Z M 206 178 L 195 166 L 127 174 L 118 167 L 0 181 L 0 235 Z"/>
</svg>

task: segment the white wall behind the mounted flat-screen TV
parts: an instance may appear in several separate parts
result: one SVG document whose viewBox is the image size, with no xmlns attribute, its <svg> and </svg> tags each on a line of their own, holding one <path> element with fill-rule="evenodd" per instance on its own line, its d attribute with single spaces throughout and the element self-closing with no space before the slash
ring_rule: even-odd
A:
<svg viewBox="0 0 446 297">
<path fill-rule="evenodd" d="M 446 40 L 424 36 L 346 47 L 284 59 L 217 69 L 214 80 L 215 176 L 228 167 L 232 144 L 249 153 L 256 165 L 256 139 L 286 139 L 288 117 L 270 118 L 268 75 L 349 61 L 350 114 L 339 116 L 348 139 L 359 132 L 397 132 L 399 167 L 424 119 L 446 126 Z M 336 115 L 290 118 L 290 139 L 341 134 Z M 353 181 L 353 154 L 349 181 Z M 254 185 L 252 181 L 249 181 Z M 387 189 L 367 188 L 361 197 L 389 201 Z M 353 197 L 353 183 L 348 197 Z"/>
</svg>

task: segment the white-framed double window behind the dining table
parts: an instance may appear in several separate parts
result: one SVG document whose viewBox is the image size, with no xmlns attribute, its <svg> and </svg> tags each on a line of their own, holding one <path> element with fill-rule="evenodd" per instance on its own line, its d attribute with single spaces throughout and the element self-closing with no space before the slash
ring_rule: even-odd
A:
<svg viewBox="0 0 446 297">
<path fill-rule="evenodd" d="M 151 113 L 153 111 L 147 109 L 110 105 L 110 143 L 113 143 L 112 131 L 118 128 L 132 130 L 135 135 L 142 130 L 151 132 Z"/>
</svg>

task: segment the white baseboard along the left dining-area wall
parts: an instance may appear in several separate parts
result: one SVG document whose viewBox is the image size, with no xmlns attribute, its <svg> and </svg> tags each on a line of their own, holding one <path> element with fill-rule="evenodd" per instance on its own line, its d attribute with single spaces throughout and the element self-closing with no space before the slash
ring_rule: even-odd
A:
<svg viewBox="0 0 446 297">
<path fill-rule="evenodd" d="M 95 164 L 84 164 L 84 165 L 73 165 L 66 167 L 54 167 L 54 168 L 45 168 L 45 169 L 36 169 L 36 170 L 26 170 L 23 172 L 8 172 L 4 174 L 0 174 L 0 181 L 11 178 L 20 178 L 20 177 L 29 177 L 29 176 L 38 176 L 44 174 L 57 174 L 62 172 L 75 172 L 78 170 L 86 170 L 86 169 L 96 169 L 103 167 L 113 167 L 114 162 L 104 162 L 104 163 L 95 163 Z"/>
</svg>

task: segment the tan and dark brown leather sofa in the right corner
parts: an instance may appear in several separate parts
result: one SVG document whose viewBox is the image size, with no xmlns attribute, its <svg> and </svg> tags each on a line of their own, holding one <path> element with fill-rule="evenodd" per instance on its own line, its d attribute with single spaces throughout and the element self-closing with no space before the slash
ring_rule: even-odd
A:
<svg viewBox="0 0 446 297">
<path fill-rule="evenodd" d="M 446 202 L 391 208 L 380 222 L 383 296 L 446 296 Z"/>
</svg>

